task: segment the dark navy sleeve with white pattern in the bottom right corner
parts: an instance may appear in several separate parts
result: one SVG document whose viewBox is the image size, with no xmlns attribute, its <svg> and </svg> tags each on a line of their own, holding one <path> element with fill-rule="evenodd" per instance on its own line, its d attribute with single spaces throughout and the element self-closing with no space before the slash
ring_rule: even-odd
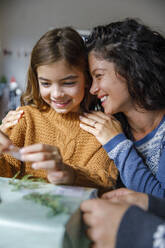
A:
<svg viewBox="0 0 165 248">
<path fill-rule="evenodd" d="M 165 219 L 132 206 L 123 216 L 116 248 L 160 248 L 165 243 Z"/>
</svg>

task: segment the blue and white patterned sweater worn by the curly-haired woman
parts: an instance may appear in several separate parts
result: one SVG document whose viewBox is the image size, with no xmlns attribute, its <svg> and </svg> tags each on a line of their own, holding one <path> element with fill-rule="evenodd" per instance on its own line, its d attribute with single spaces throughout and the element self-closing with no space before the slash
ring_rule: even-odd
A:
<svg viewBox="0 0 165 248">
<path fill-rule="evenodd" d="M 139 141 L 119 134 L 103 147 L 127 188 L 165 198 L 165 117 Z"/>
</svg>

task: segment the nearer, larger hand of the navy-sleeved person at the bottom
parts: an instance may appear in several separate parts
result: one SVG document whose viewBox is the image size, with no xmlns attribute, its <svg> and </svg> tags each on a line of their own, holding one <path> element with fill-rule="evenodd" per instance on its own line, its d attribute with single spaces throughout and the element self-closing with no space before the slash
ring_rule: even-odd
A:
<svg viewBox="0 0 165 248">
<path fill-rule="evenodd" d="M 102 199 L 84 201 L 81 204 L 83 220 L 88 226 L 87 235 L 93 241 L 92 248 L 115 248 L 120 222 L 130 207 Z"/>
</svg>

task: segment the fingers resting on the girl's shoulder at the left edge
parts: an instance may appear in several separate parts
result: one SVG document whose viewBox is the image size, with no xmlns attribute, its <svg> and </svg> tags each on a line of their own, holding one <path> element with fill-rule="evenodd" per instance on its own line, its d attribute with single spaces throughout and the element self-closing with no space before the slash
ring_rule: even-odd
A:
<svg viewBox="0 0 165 248">
<path fill-rule="evenodd" d="M 2 124 L 0 125 L 0 130 L 2 132 L 6 132 L 8 129 L 15 126 L 23 114 L 24 114 L 23 110 L 19 110 L 19 109 L 15 111 L 10 111 L 2 120 Z"/>
</svg>

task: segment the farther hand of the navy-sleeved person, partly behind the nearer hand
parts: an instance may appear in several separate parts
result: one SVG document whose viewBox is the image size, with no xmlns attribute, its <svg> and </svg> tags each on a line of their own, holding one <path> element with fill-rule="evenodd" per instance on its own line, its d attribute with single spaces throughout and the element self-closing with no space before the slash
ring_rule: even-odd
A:
<svg viewBox="0 0 165 248">
<path fill-rule="evenodd" d="M 120 188 L 112 190 L 102 195 L 103 199 L 110 200 L 114 203 L 126 203 L 136 205 L 144 210 L 148 209 L 148 195 L 135 192 L 130 189 Z"/>
</svg>

